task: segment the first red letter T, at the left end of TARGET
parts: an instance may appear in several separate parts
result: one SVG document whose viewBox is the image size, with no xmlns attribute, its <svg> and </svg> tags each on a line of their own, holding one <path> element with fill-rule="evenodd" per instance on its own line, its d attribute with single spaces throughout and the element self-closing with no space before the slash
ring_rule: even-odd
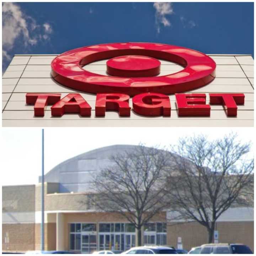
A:
<svg viewBox="0 0 256 256">
<path fill-rule="evenodd" d="M 26 94 L 26 103 L 34 105 L 34 116 L 44 116 L 47 105 L 53 105 L 60 100 L 60 94 Z"/>
</svg>

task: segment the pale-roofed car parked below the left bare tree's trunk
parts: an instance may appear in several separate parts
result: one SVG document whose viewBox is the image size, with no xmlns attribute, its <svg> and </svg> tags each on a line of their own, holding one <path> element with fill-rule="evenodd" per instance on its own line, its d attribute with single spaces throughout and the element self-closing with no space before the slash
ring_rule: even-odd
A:
<svg viewBox="0 0 256 256">
<path fill-rule="evenodd" d="M 123 254 L 177 254 L 176 250 L 163 246 L 139 246 L 133 247 Z"/>
</svg>

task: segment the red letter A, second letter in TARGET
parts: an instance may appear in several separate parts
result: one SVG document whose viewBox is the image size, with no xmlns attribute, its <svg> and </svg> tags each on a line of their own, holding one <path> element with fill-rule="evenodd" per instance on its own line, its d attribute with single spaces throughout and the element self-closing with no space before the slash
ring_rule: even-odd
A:
<svg viewBox="0 0 256 256">
<path fill-rule="evenodd" d="M 52 107 L 52 116 L 63 116 L 64 113 L 79 113 L 91 116 L 91 107 L 80 94 L 68 94 Z"/>
</svg>

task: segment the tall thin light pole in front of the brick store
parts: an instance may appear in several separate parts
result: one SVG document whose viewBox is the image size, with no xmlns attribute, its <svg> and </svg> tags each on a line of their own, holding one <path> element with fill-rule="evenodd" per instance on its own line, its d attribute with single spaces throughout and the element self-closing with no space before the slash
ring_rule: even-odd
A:
<svg viewBox="0 0 256 256">
<path fill-rule="evenodd" d="M 44 129 L 42 129 L 41 251 L 44 251 Z"/>
</svg>

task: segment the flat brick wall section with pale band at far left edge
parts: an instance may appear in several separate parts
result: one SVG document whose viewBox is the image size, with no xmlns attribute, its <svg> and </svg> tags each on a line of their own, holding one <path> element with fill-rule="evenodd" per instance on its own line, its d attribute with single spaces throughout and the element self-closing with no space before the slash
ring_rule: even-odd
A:
<svg viewBox="0 0 256 256">
<path fill-rule="evenodd" d="M 2 250 L 34 250 L 35 186 L 2 187 Z M 9 249 L 5 236 L 9 235 Z"/>
</svg>

